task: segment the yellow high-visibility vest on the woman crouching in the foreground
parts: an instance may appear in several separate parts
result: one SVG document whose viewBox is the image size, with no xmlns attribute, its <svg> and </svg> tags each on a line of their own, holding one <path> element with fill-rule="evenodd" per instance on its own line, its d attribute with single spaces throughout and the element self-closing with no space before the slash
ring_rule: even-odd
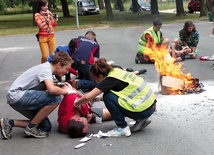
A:
<svg viewBox="0 0 214 155">
<path fill-rule="evenodd" d="M 153 104 L 155 95 L 142 77 L 118 68 L 113 69 L 107 77 L 113 77 L 128 83 L 128 86 L 121 91 L 111 90 L 119 97 L 118 103 L 124 109 L 141 112 Z"/>
</svg>

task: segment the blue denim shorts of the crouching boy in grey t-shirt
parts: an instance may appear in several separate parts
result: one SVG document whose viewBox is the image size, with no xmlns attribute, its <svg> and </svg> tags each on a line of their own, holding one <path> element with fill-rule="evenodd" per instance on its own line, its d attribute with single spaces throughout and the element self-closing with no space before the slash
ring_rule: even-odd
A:
<svg viewBox="0 0 214 155">
<path fill-rule="evenodd" d="M 61 96 L 50 94 L 47 91 L 27 90 L 18 102 L 10 104 L 10 106 L 32 120 L 41 108 L 58 104 L 61 100 Z M 52 128 L 49 118 L 43 119 L 39 127 L 43 131 L 49 132 Z"/>
</svg>

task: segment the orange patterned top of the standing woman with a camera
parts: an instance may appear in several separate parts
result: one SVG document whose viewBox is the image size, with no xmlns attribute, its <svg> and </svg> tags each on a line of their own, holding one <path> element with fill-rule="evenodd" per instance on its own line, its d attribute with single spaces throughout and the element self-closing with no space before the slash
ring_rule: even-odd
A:
<svg viewBox="0 0 214 155">
<path fill-rule="evenodd" d="M 50 20 L 50 22 L 48 24 L 46 24 L 43 28 L 40 28 L 40 26 L 46 22 L 46 19 L 43 15 L 41 15 L 40 13 L 36 13 L 34 15 L 35 18 L 35 22 L 37 23 L 38 27 L 39 27 L 39 32 L 38 34 L 40 36 L 54 36 L 54 29 L 53 27 L 56 26 L 56 21 L 54 19 Z M 48 18 L 50 19 L 50 15 L 48 15 Z M 49 33 L 48 33 L 49 31 Z"/>
</svg>

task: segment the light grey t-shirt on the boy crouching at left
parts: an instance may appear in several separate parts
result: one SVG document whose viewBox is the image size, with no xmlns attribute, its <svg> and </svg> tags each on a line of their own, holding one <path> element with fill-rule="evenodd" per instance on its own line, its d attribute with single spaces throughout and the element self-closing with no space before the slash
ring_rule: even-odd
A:
<svg viewBox="0 0 214 155">
<path fill-rule="evenodd" d="M 36 65 L 22 73 L 7 92 L 7 103 L 19 101 L 26 90 L 46 90 L 44 80 L 53 81 L 52 68 L 49 62 Z"/>
</svg>

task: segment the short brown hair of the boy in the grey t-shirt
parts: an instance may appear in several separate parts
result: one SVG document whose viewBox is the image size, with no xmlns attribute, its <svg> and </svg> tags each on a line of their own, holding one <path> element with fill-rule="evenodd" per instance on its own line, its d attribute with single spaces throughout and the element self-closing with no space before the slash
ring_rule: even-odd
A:
<svg viewBox="0 0 214 155">
<path fill-rule="evenodd" d="M 68 63 L 72 63 L 73 60 L 67 52 L 59 51 L 53 56 L 52 64 L 57 64 L 58 62 L 60 62 L 61 66 L 63 67 Z"/>
</svg>

